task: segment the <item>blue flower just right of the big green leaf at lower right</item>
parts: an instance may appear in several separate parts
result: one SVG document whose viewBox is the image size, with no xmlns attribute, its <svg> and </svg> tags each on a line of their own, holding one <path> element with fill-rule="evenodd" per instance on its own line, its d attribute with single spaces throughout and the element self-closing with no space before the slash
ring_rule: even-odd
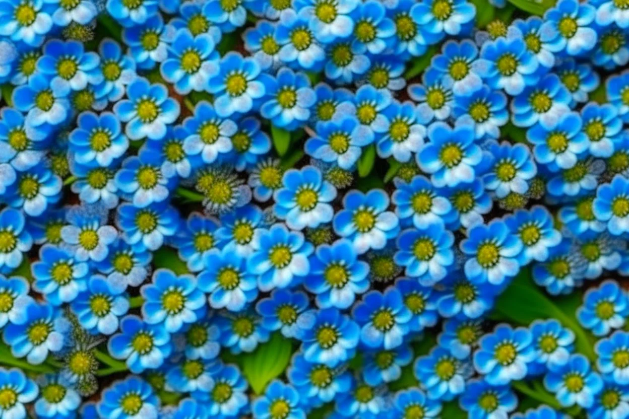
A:
<svg viewBox="0 0 629 419">
<path fill-rule="evenodd" d="M 629 299 L 616 281 L 604 281 L 599 288 L 590 288 L 577 309 L 577 319 L 595 336 L 604 336 L 620 329 L 629 315 Z"/>
</svg>

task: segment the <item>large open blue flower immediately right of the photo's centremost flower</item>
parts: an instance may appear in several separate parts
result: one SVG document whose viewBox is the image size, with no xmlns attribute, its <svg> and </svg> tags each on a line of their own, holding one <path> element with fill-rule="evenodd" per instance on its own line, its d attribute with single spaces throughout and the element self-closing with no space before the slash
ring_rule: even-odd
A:
<svg viewBox="0 0 629 419">
<path fill-rule="evenodd" d="M 374 189 L 366 194 L 357 190 L 343 198 L 343 210 L 334 216 L 332 226 L 341 237 L 352 241 L 358 254 L 369 249 L 383 249 L 387 240 L 399 232 L 398 217 L 386 211 L 389 196 L 384 190 Z"/>
</svg>

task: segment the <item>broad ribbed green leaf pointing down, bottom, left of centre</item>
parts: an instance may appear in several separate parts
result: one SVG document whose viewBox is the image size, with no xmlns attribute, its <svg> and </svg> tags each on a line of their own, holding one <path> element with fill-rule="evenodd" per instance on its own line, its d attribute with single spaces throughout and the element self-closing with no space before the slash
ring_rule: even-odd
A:
<svg viewBox="0 0 629 419">
<path fill-rule="evenodd" d="M 255 394 L 262 394 L 272 379 L 284 373 L 291 354 L 291 340 L 275 332 L 268 342 L 260 344 L 255 351 L 238 355 L 238 363 Z"/>
</svg>

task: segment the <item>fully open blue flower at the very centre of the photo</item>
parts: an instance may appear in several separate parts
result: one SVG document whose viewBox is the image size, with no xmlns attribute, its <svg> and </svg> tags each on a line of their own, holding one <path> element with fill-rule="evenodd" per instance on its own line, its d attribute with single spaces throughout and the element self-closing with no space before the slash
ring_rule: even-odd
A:
<svg viewBox="0 0 629 419">
<path fill-rule="evenodd" d="M 334 215 L 328 204 L 337 197 L 337 190 L 323 179 L 323 174 L 314 166 L 300 170 L 290 169 L 284 173 L 282 187 L 274 193 L 274 214 L 295 230 L 317 227 L 330 222 Z"/>
</svg>

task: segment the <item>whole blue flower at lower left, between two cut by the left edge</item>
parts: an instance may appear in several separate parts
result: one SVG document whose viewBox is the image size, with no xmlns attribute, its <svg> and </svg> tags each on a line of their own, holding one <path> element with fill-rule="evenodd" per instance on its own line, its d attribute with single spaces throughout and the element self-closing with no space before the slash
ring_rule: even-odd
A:
<svg viewBox="0 0 629 419">
<path fill-rule="evenodd" d="M 60 311 L 47 303 L 32 302 L 23 309 L 25 317 L 19 324 L 4 328 L 3 340 L 16 358 L 26 356 L 29 364 L 39 365 L 48 352 L 58 352 L 64 346 L 69 323 Z"/>
</svg>

